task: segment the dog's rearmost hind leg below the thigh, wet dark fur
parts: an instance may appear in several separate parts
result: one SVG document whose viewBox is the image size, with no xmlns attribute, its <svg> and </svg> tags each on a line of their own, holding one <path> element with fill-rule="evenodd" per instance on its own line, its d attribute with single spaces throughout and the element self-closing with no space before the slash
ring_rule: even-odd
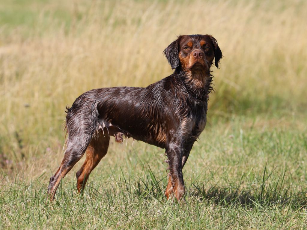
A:
<svg viewBox="0 0 307 230">
<path fill-rule="evenodd" d="M 81 141 L 77 138 L 68 138 L 67 149 L 59 169 L 50 178 L 48 186 L 49 199 L 52 201 L 56 194 L 60 181 L 72 169 L 72 167 L 82 158 L 89 141 Z"/>
</svg>

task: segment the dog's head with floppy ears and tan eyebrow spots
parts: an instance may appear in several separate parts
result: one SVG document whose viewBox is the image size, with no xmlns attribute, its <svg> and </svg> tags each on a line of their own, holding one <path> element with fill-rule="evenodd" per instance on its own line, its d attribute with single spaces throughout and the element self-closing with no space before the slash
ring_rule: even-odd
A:
<svg viewBox="0 0 307 230">
<path fill-rule="evenodd" d="M 172 69 L 178 71 L 206 71 L 210 70 L 213 59 L 219 67 L 222 51 L 217 41 L 211 35 L 181 35 L 165 50 Z"/>
</svg>

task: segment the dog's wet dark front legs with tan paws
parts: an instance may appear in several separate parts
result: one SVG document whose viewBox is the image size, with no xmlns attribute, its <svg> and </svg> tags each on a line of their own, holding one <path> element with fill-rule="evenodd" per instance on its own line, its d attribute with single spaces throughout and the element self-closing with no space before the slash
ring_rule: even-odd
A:
<svg viewBox="0 0 307 230">
<path fill-rule="evenodd" d="M 169 199 L 171 193 L 175 193 L 175 197 L 180 201 L 185 193 L 185 184 L 182 175 L 182 154 L 183 146 L 181 144 L 170 144 L 166 148 L 166 154 L 169 164 L 169 184 L 166 188 L 165 195 Z"/>
</svg>

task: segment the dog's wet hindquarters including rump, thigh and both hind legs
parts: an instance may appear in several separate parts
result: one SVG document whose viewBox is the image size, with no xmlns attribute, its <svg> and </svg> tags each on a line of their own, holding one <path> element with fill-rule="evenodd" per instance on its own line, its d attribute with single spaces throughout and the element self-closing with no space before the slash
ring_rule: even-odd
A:
<svg viewBox="0 0 307 230">
<path fill-rule="evenodd" d="M 60 164 L 60 167 L 50 178 L 48 186 L 50 200 L 53 200 L 60 180 L 65 177 L 65 175 L 72 169 L 72 167 L 82 158 L 90 143 L 91 148 L 88 150 L 89 154 L 86 158 L 86 161 L 77 173 L 77 187 L 79 185 L 79 192 L 81 189 L 80 183 L 84 181 L 84 178 L 87 180 L 91 170 L 95 168 L 100 159 L 107 152 L 109 139 L 107 138 L 107 140 L 102 140 L 99 138 L 97 139 L 97 137 L 93 138 L 94 132 L 97 131 L 98 124 L 98 112 L 96 107 L 97 103 L 93 99 L 87 97 L 87 93 L 84 93 L 79 98 L 77 98 L 72 107 L 67 110 L 67 149 L 65 150 L 64 158 Z M 91 142 L 92 138 L 95 139 L 95 141 Z M 103 150 L 99 149 L 99 147 L 97 147 L 98 144 L 96 143 L 99 141 L 103 142 L 103 146 L 106 148 L 103 148 Z"/>
</svg>

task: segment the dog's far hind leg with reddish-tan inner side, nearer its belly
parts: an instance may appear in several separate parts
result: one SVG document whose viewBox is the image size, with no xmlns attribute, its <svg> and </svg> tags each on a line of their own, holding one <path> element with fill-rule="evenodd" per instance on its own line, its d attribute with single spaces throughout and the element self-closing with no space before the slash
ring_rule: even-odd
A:
<svg viewBox="0 0 307 230">
<path fill-rule="evenodd" d="M 106 134 L 106 132 L 104 132 Z M 93 137 L 86 150 L 86 159 L 80 170 L 76 173 L 77 190 L 80 193 L 87 182 L 91 171 L 98 165 L 100 160 L 107 154 L 110 136 L 103 132 Z"/>
</svg>

